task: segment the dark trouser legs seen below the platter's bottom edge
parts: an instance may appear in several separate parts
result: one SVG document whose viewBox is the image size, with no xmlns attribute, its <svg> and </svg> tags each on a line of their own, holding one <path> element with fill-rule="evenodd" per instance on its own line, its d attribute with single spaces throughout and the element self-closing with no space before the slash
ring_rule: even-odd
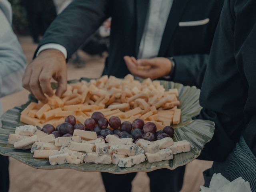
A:
<svg viewBox="0 0 256 192">
<path fill-rule="evenodd" d="M 179 192 L 182 188 L 185 166 L 175 170 L 159 169 L 147 172 L 150 178 L 151 192 Z M 136 173 L 101 173 L 106 192 L 130 192 Z"/>
</svg>

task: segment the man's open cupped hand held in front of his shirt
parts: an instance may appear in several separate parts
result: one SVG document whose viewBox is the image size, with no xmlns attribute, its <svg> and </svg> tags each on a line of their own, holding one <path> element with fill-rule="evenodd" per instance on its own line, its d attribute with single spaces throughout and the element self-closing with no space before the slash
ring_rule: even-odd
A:
<svg viewBox="0 0 256 192">
<path fill-rule="evenodd" d="M 134 57 L 124 56 L 124 61 L 130 72 L 141 78 L 157 79 L 170 74 L 172 70 L 172 61 L 164 57 L 136 60 Z"/>
</svg>

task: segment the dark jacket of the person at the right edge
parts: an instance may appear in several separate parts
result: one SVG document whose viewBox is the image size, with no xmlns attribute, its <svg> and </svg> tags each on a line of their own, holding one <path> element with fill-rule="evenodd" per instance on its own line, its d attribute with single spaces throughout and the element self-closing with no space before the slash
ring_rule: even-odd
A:
<svg viewBox="0 0 256 192">
<path fill-rule="evenodd" d="M 200 117 L 215 122 L 200 158 L 223 161 L 240 136 L 256 156 L 256 1 L 226 0 L 206 69 Z"/>
</svg>

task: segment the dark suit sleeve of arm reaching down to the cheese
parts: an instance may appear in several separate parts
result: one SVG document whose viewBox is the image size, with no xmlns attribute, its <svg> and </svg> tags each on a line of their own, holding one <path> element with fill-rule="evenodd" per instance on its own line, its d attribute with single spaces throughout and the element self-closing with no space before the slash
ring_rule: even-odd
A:
<svg viewBox="0 0 256 192">
<path fill-rule="evenodd" d="M 60 44 L 67 50 L 67 60 L 110 16 L 110 0 L 74 0 L 52 22 L 38 49 L 49 43 Z"/>
</svg>

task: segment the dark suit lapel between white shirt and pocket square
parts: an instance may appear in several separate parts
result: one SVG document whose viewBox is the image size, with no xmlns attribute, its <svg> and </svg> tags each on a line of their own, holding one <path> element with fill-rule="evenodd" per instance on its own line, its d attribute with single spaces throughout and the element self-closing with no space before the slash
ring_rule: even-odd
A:
<svg viewBox="0 0 256 192">
<path fill-rule="evenodd" d="M 164 34 L 162 36 L 161 46 L 158 52 L 159 57 L 165 56 L 166 49 L 168 48 L 169 44 L 171 43 L 170 40 L 175 29 L 178 26 L 180 18 L 184 12 L 186 4 L 189 0 L 174 0 L 172 4 L 172 8 L 170 10 L 170 14 L 168 16 L 166 27 L 164 29 Z"/>
</svg>

